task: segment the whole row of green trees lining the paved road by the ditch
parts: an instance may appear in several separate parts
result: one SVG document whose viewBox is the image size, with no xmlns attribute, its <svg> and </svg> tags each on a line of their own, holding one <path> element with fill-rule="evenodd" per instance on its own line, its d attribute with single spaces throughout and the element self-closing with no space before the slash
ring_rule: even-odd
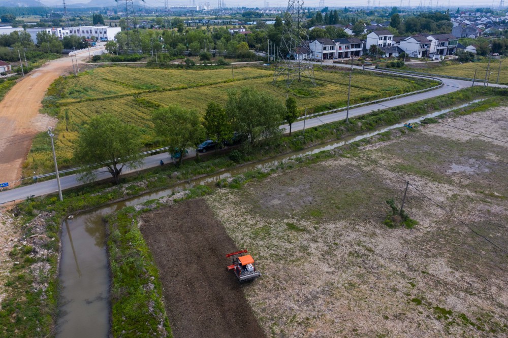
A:
<svg viewBox="0 0 508 338">
<path fill-rule="evenodd" d="M 210 102 L 203 120 L 196 110 L 174 105 L 153 112 L 155 132 L 165 145 L 184 151 L 196 148 L 209 138 L 217 144 L 231 140 L 233 131 L 245 138 L 248 147 L 273 141 L 281 134 L 279 122 L 296 120 L 294 98 L 284 105 L 273 96 L 252 88 L 228 93 L 226 106 Z M 90 180 L 94 170 L 106 166 L 116 184 L 125 167 L 136 168 L 142 163 L 139 128 L 126 124 L 111 114 L 92 118 L 80 134 L 74 158 L 89 166 L 82 178 Z M 180 163 L 183 156 L 180 156 Z"/>
</svg>

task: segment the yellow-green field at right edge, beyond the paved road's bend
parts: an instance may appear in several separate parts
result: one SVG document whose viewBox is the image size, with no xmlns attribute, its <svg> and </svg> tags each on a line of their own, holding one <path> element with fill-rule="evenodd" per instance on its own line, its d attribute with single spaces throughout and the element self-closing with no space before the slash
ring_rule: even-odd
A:
<svg viewBox="0 0 508 338">
<path fill-rule="evenodd" d="M 499 61 L 501 61 L 499 84 L 508 84 L 508 58 L 491 60 L 489 73 L 492 73 L 490 74 L 489 83 L 496 83 L 497 81 Z M 474 77 L 474 71 L 476 70 L 476 78 L 482 81 L 485 80 L 485 74 L 489 66 L 487 60 L 481 62 L 466 62 L 463 64 L 457 64 L 457 62 L 446 62 L 444 64 L 441 64 L 441 62 L 427 63 L 425 64 L 426 67 L 421 67 L 420 65 L 421 64 L 418 64 L 418 67 L 415 65 L 415 69 L 411 67 L 411 71 L 472 79 Z"/>
</svg>

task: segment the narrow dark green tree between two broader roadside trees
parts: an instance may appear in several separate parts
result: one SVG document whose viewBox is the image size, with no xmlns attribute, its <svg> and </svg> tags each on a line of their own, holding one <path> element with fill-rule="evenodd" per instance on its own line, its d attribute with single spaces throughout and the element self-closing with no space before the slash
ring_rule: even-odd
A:
<svg viewBox="0 0 508 338">
<path fill-rule="evenodd" d="M 233 137 L 233 126 L 226 110 L 213 101 L 206 108 L 203 126 L 208 138 L 215 142 L 215 152 L 221 144 Z"/>
</svg>

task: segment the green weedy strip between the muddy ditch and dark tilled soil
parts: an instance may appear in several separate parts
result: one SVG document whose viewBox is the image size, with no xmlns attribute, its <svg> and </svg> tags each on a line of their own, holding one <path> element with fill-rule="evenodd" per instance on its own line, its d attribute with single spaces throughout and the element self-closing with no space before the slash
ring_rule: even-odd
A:
<svg viewBox="0 0 508 338">
<path fill-rule="evenodd" d="M 126 207 L 108 219 L 112 336 L 172 336 L 158 270 L 136 215 Z"/>
</svg>

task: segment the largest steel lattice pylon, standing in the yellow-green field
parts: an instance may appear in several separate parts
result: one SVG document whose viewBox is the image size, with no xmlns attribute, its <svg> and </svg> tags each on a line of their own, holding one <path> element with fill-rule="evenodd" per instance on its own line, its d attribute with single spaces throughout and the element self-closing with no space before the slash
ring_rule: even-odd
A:
<svg viewBox="0 0 508 338">
<path fill-rule="evenodd" d="M 302 77 L 306 77 L 315 85 L 314 69 L 309 61 L 309 35 L 304 27 L 303 13 L 303 0 L 289 0 L 278 52 L 282 61 L 275 69 L 274 82 L 279 77 L 285 77 L 290 86 L 295 79 L 301 81 Z"/>
</svg>

